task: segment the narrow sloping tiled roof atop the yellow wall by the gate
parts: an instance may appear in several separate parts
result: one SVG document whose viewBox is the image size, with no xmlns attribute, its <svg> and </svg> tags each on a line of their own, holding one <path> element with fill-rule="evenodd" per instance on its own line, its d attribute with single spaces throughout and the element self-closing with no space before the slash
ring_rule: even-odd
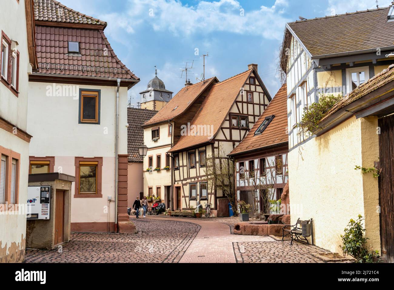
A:
<svg viewBox="0 0 394 290">
<path fill-rule="evenodd" d="M 355 88 L 353 91 L 351 91 L 349 94 L 347 94 L 343 99 L 336 103 L 334 107 L 327 112 L 327 114 L 325 114 L 325 116 L 322 118 L 322 120 L 320 120 L 320 122 L 327 120 L 327 118 L 329 118 L 329 116 L 334 114 L 336 111 L 342 109 L 343 107 L 346 107 L 347 105 L 353 103 L 354 101 L 357 101 L 358 99 L 361 99 L 365 95 L 370 94 L 374 90 L 377 90 L 378 88 L 392 81 L 394 81 L 394 64 L 390 65 L 387 69 L 384 69 L 381 73 L 378 73 L 373 78 L 367 80 L 366 82 Z"/>
</svg>

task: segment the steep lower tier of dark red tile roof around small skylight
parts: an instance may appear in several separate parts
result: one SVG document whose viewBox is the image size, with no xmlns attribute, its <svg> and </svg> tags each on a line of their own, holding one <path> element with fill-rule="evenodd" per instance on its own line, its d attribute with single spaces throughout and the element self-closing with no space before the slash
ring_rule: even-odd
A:
<svg viewBox="0 0 394 290">
<path fill-rule="evenodd" d="M 35 32 L 39 73 L 139 80 L 117 58 L 102 30 L 36 26 Z M 80 54 L 68 53 L 68 41 L 80 43 Z"/>
</svg>

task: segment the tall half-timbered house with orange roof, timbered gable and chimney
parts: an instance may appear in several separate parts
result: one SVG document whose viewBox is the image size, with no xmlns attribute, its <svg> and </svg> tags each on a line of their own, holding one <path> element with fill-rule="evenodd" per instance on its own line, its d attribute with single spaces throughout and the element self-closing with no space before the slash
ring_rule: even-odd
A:
<svg viewBox="0 0 394 290">
<path fill-rule="evenodd" d="M 212 156 L 228 158 L 270 101 L 257 65 L 250 64 L 247 71 L 212 84 L 175 120 L 174 146 L 169 150 L 174 160 L 175 209 L 210 203 L 221 215 L 228 208 L 221 190 L 208 187 L 206 161 Z"/>
</svg>

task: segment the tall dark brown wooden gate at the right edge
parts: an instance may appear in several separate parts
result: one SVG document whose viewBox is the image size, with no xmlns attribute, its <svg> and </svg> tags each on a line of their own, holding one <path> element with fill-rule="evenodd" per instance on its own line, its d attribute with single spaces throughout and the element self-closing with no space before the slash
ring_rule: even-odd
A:
<svg viewBox="0 0 394 290">
<path fill-rule="evenodd" d="M 387 262 L 394 263 L 394 115 L 380 118 L 378 125 L 381 252 Z"/>
</svg>

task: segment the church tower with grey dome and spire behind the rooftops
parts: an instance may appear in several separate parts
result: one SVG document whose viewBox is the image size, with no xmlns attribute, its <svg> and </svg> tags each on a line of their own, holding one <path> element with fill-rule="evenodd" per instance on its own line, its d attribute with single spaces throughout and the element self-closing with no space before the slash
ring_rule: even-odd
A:
<svg viewBox="0 0 394 290">
<path fill-rule="evenodd" d="M 173 92 L 165 89 L 164 82 L 157 77 L 156 69 L 155 77 L 148 82 L 147 89 L 139 94 L 141 95 L 141 109 L 158 111 L 171 100 Z"/>
</svg>

